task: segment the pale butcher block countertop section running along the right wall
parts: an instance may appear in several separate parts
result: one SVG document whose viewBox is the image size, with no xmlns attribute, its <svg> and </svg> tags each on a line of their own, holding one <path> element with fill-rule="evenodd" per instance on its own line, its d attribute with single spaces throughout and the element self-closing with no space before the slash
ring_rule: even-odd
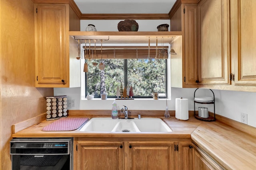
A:
<svg viewBox="0 0 256 170">
<path fill-rule="evenodd" d="M 202 123 L 191 134 L 200 149 L 229 170 L 256 170 L 256 137 L 218 121 Z"/>
</svg>

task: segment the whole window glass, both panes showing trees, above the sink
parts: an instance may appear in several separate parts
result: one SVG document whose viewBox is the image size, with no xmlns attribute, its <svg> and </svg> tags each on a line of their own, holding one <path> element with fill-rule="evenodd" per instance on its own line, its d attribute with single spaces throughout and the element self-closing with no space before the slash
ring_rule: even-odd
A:
<svg viewBox="0 0 256 170">
<path fill-rule="evenodd" d="M 104 63 L 100 70 L 92 62 Z M 165 98 L 167 87 L 166 59 L 93 59 L 88 61 L 86 75 L 86 94 L 94 92 L 95 98 L 101 93 L 116 97 L 116 89 L 129 84 L 133 88 L 134 98 L 152 98 L 152 90 Z M 85 95 L 86 96 L 86 95 Z"/>
</svg>

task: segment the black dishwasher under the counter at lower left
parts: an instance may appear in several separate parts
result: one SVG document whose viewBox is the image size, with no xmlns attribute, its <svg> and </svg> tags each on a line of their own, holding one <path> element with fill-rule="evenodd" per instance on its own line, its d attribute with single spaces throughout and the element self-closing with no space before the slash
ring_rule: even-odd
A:
<svg viewBox="0 0 256 170">
<path fill-rule="evenodd" d="M 12 170 L 72 170 L 72 138 L 14 138 Z"/>
</svg>

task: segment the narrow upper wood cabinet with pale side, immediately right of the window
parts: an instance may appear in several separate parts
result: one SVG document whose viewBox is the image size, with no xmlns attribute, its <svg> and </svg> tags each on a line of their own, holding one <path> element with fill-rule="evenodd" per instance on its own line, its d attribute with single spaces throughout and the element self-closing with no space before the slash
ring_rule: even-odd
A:
<svg viewBox="0 0 256 170">
<path fill-rule="evenodd" d="M 179 15 L 181 17 L 178 17 Z M 171 30 L 178 29 L 177 18 L 182 21 L 182 37 L 176 37 L 171 47 L 177 55 L 171 55 L 171 86 L 198 87 L 197 59 L 197 4 L 181 4 L 171 18 Z"/>
</svg>

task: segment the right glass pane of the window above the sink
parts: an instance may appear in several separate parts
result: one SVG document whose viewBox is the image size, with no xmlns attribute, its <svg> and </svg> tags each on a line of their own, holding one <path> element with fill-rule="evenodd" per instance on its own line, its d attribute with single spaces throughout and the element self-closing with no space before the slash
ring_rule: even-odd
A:
<svg viewBox="0 0 256 170">
<path fill-rule="evenodd" d="M 134 96 L 150 96 L 152 90 L 165 97 L 166 60 L 128 59 L 128 82 Z"/>
</svg>

